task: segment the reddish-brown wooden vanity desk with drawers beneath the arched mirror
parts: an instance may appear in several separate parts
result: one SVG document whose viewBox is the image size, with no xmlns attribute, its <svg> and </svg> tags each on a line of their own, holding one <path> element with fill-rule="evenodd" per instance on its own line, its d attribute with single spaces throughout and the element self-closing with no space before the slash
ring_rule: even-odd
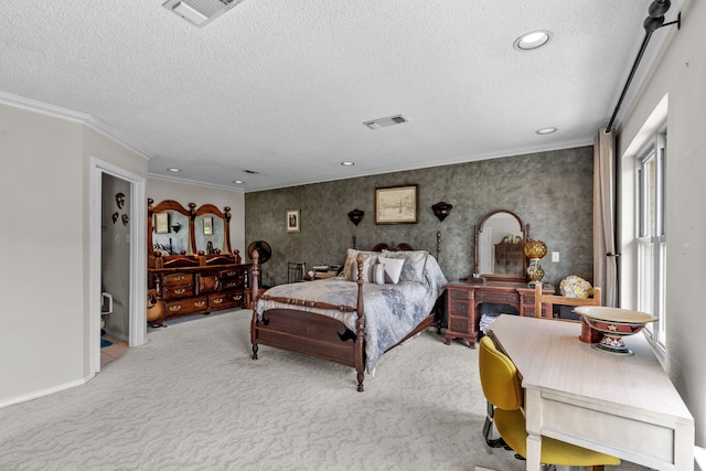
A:
<svg viewBox="0 0 706 471">
<path fill-rule="evenodd" d="M 483 302 L 509 304 L 516 309 L 520 315 L 534 317 L 534 288 L 530 288 L 524 282 L 454 281 L 447 285 L 446 290 L 448 319 L 445 341 L 447 345 L 453 339 L 464 339 L 471 349 L 475 347 L 480 332 L 480 308 Z M 554 287 L 547 285 L 542 292 L 553 295 Z M 542 308 L 543 317 L 552 317 L 550 304 L 543 304 Z"/>
</svg>

